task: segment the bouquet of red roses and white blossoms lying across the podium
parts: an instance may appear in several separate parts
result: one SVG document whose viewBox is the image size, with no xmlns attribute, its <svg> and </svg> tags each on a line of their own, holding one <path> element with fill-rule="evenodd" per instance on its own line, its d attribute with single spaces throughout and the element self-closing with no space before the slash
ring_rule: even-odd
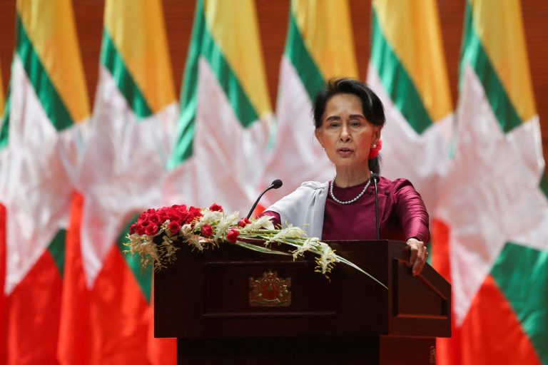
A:
<svg viewBox="0 0 548 365">
<path fill-rule="evenodd" d="M 336 262 L 342 262 L 385 287 L 357 265 L 336 255 L 325 242 L 316 237 L 307 237 L 305 230 L 299 227 L 288 225 L 276 229 L 270 217 L 240 219 L 238 212 L 227 215 L 223 207 L 217 204 L 208 208 L 173 205 L 146 210 L 130 226 L 128 240 L 126 246 L 129 250 L 126 252 L 140 255 L 143 269 L 150 265 L 156 271 L 168 267 L 183 244 L 201 252 L 226 242 L 267 254 L 292 255 L 293 259 L 311 252 L 317 256 L 315 271 L 325 277 L 328 277 Z M 284 247 L 289 250 L 284 251 Z"/>
</svg>

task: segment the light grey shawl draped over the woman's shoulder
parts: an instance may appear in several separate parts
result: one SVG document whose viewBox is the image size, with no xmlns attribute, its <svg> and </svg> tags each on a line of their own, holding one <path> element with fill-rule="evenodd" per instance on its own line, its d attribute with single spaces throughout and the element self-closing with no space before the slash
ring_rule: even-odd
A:
<svg viewBox="0 0 548 365">
<path fill-rule="evenodd" d="M 282 225 L 290 223 L 295 227 L 303 228 L 308 237 L 321 239 L 328 184 L 307 181 L 266 210 L 278 212 Z"/>
</svg>

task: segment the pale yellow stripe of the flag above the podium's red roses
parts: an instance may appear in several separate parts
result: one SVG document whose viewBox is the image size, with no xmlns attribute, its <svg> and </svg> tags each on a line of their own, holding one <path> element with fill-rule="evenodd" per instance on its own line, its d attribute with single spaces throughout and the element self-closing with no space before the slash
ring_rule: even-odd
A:
<svg viewBox="0 0 548 365">
<path fill-rule="evenodd" d="M 272 113 L 253 0 L 206 0 L 205 21 L 260 118 Z"/>
</svg>

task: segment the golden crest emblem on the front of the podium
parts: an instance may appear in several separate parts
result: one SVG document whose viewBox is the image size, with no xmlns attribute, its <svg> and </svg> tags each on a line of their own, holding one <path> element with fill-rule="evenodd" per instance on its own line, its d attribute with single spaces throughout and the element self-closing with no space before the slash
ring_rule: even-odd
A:
<svg viewBox="0 0 548 365">
<path fill-rule="evenodd" d="M 289 307 L 291 305 L 291 278 L 282 279 L 278 272 L 263 272 L 263 277 L 249 278 L 249 305 L 251 307 Z"/>
</svg>

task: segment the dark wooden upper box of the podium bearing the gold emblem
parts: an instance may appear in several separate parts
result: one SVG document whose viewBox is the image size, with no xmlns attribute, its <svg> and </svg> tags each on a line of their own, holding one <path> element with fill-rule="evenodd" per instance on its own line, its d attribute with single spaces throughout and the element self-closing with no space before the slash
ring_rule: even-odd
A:
<svg viewBox="0 0 548 365">
<path fill-rule="evenodd" d="M 155 336 L 444 336 L 450 331 L 445 281 L 432 282 L 437 273 L 430 267 L 425 277 L 412 277 L 402 242 L 330 245 L 389 289 L 342 263 L 326 279 L 314 272 L 313 255 L 294 262 L 291 256 L 228 244 L 204 252 L 183 248 L 173 266 L 154 274 Z M 413 287 L 419 287 L 422 304 L 413 304 Z"/>
</svg>

